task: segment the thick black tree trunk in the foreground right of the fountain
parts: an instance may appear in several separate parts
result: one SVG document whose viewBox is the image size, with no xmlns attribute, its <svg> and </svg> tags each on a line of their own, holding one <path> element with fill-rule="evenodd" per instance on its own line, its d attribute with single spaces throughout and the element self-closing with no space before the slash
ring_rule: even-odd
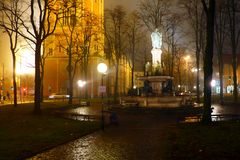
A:
<svg viewBox="0 0 240 160">
<path fill-rule="evenodd" d="M 204 111 L 203 122 L 211 122 L 211 80 L 212 80 L 212 58 L 214 44 L 214 18 L 215 18 L 215 0 L 201 0 L 207 17 L 207 38 L 206 52 L 204 55 Z"/>
</svg>

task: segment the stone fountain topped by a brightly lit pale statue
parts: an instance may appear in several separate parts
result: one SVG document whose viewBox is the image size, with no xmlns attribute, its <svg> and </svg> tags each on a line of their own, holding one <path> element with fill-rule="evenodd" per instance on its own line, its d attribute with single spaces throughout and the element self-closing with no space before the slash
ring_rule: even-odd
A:
<svg viewBox="0 0 240 160">
<path fill-rule="evenodd" d="M 162 34 L 156 29 L 151 34 L 152 62 L 147 62 L 144 76 L 137 77 L 144 82 L 140 96 L 121 97 L 122 105 L 138 105 L 146 107 L 180 107 L 184 97 L 177 97 L 173 92 L 172 81 L 174 77 L 162 75 Z"/>
</svg>

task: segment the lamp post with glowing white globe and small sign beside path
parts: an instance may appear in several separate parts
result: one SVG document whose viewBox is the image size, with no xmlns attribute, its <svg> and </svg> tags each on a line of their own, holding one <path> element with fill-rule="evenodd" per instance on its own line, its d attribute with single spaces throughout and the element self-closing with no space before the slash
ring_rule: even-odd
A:
<svg viewBox="0 0 240 160">
<path fill-rule="evenodd" d="M 107 65 L 105 63 L 99 63 L 97 66 L 97 70 L 99 73 L 101 73 L 101 86 L 99 86 L 99 93 L 102 94 L 101 128 L 104 131 L 103 93 L 106 92 L 106 87 L 103 86 L 103 75 L 107 71 Z"/>
</svg>

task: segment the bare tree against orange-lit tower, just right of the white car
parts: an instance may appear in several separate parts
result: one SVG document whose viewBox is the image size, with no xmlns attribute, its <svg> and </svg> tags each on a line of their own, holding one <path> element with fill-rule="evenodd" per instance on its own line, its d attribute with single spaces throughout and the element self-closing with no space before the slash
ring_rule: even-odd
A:
<svg viewBox="0 0 240 160">
<path fill-rule="evenodd" d="M 61 33 L 58 36 L 59 45 L 63 48 L 68 55 L 68 94 L 69 104 L 72 104 L 73 99 L 73 80 L 77 68 L 77 64 L 82 59 L 82 55 L 79 54 L 80 32 L 77 28 L 77 23 L 81 21 L 83 15 L 77 15 L 77 10 L 82 10 L 80 4 L 77 4 L 76 0 L 64 1 L 62 6 L 62 17 L 59 21 L 61 26 Z"/>
</svg>

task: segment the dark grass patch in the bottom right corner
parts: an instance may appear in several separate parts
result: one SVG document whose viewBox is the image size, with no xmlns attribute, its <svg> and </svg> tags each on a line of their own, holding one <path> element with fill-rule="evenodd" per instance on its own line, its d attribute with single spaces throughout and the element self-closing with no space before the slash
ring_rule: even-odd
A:
<svg viewBox="0 0 240 160">
<path fill-rule="evenodd" d="M 178 124 L 166 138 L 166 159 L 240 159 L 240 123 Z"/>
</svg>

